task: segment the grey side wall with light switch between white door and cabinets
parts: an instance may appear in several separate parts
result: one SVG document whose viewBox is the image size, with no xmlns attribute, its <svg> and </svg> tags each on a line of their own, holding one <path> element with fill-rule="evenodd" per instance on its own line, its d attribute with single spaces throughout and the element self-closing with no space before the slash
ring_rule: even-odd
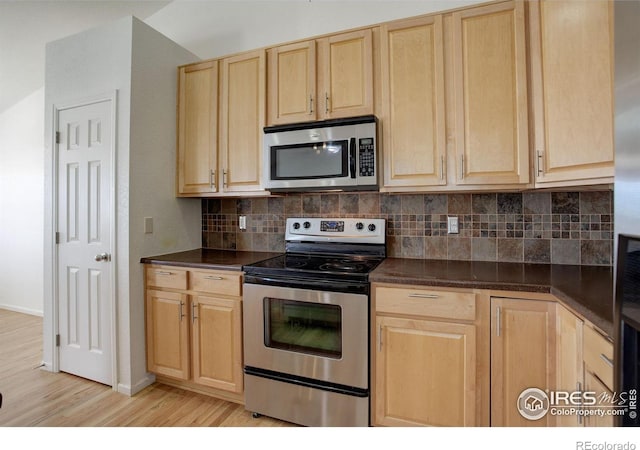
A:
<svg viewBox="0 0 640 450">
<path fill-rule="evenodd" d="M 199 199 L 176 198 L 172 176 L 176 173 L 177 67 L 198 58 L 134 18 L 131 61 L 129 259 L 120 273 L 129 282 L 129 357 L 131 393 L 135 393 L 148 379 L 140 258 L 199 248 L 201 209 Z M 144 233 L 145 217 L 153 218 L 153 233 Z"/>
</svg>

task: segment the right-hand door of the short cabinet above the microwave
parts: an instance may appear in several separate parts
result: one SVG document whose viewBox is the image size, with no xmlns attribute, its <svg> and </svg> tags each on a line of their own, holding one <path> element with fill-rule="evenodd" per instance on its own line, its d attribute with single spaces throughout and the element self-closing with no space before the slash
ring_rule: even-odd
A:
<svg viewBox="0 0 640 450">
<path fill-rule="evenodd" d="M 318 45 L 319 116 L 333 119 L 373 114 L 371 30 L 320 39 Z"/>
</svg>

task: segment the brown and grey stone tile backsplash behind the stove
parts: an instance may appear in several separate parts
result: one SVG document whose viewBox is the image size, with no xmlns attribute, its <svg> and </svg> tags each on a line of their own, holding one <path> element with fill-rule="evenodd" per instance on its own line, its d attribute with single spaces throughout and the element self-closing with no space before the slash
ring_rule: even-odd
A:
<svg viewBox="0 0 640 450">
<path fill-rule="evenodd" d="M 238 216 L 247 229 L 238 228 Z M 387 220 L 387 256 L 612 265 L 613 193 L 318 193 L 202 200 L 202 246 L 284 251 L 287 217 Z M 459 233 L 447 233 L 457 216 Z"/>
</svg>

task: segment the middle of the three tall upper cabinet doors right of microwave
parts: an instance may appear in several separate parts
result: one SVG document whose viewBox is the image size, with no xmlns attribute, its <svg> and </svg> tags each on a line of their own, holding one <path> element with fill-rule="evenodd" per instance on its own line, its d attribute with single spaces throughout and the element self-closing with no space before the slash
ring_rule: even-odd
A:
<svg viewBox="0 0 640 450">
<path fill-rule="evenodd" d="M 452 16 L 456 183 L 529 182 L 524 5 Z"/>
</svg>

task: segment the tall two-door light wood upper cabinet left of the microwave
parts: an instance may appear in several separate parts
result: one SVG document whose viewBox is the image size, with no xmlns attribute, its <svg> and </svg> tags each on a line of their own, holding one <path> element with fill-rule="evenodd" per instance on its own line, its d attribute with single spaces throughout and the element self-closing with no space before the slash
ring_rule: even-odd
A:
<svg viewBox="0 0 640 450">
<path fill-rule="evenodd" d="M 260 195 L 264 50 L 180 67 L 177 194 Z"/>
</svg>

